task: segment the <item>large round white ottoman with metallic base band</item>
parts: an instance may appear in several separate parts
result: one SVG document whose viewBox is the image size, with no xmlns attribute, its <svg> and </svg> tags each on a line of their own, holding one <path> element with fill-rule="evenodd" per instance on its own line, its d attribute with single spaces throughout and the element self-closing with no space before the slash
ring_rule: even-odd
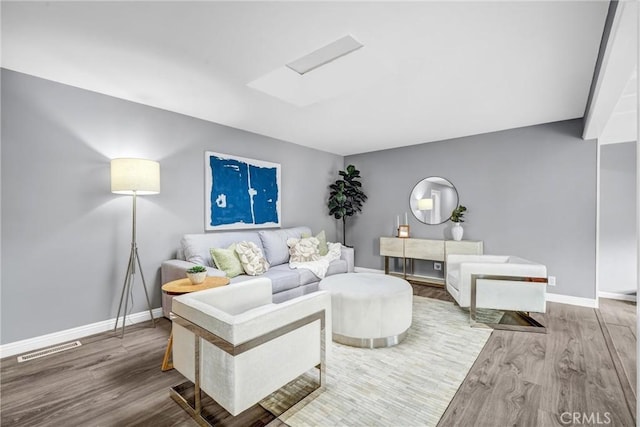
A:
<svg viewBox="0 0 640 427">
<path fill-rule="evenodd" d="M 319 288 L 331 294 L 333 340 L 354 347 L 390 347 L 411 326 L 413 289 L 384 274 L 345 273 L 326 277 Z"/>
</svg>

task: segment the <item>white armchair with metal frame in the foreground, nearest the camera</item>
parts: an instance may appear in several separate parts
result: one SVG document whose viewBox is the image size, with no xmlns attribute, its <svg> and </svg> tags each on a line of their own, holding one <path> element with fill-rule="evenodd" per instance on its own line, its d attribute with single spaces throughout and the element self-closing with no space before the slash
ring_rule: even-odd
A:
<svg viewBox="0 0 640 427">
<path fill-rule="evenodd" d="M 256 278 L 173 299 L 173 364 L 195 384 L 195 405 L 177 387 L 171 397 L 196 421 L 199 390 L 235 416 L 314 367 L 324 385 L 330 295 L 271 297 L 271 281 Z"/>
</svg>

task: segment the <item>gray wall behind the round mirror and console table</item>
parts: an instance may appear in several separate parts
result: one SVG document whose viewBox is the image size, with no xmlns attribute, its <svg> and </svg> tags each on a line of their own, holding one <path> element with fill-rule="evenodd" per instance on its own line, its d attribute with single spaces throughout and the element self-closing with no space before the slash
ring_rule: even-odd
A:
<svg viewBox="0 0 640 427">
<path fill-rule="evenodd" d="M 581 133 L 572 120 L 347 156 L 369 196 L 347 225 L 356 265 L 383 268 L 378 237 L 410 212 L 416 182 L 442 176 L 468 208 L 464 239 L 546 264 L 557 278 L 549 292 L 595 298 L 597 147 Z M 409 214 L 409 225 L 412 237 L 451 238 L 451 222 L 425 225 Z"/>
</svg>

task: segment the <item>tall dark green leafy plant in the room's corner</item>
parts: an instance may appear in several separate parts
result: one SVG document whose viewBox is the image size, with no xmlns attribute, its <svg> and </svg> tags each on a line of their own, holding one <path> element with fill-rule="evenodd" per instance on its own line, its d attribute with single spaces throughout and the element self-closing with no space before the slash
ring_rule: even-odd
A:
<svg viewBox="0 0 640 427">
<path fill-rule="evenodd" d="M 342 244 L 346 245 L 346 220 L 348 217 L 362 212 L 362 205 L 367 200 L 367 195 L 362 191 L 362 183 L 359 181 L 360 171 L 354 165 L 347 166 L 346 170 L 339 171 L 342 179 L 336 180 L 329 186 L 329 215 L 342 220 Z"/>
</svg>

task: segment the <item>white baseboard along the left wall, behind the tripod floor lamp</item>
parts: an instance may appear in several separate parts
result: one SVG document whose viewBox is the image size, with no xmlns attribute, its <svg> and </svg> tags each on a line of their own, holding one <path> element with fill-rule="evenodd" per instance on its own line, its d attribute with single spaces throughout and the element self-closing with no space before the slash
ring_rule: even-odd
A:
<svg viewBox="0 0 640 427">
<path fill-rule="evenodd" d="M 153 317 L 158 319 L 162 317 L 162 308 L 154 308 L 152 310 Z M 133 313 L 127 316 L 127 325 L 145 322 L 150 320 L 149 310 Z M 54 332 L 39 337 L 29 338 L 26 340 L 16 341 L 8 344 L 0 345 L 0 358 L 15 356 L 26 353 L 28 351 L 40 348 L 51 347 L 53 345 L 62 344 L 67 341 L 77 340 L 79 338 L 88 337 L 89 335 L 99 334 L 101 332 L 111 331 L 116 325 L 116 319 L 103 320 L 102 322 L 91 323 L 89 325 L 78 326 L 64 331 Z M 122 327 L 122 321 L 119 322 Z"/>
</svg>

